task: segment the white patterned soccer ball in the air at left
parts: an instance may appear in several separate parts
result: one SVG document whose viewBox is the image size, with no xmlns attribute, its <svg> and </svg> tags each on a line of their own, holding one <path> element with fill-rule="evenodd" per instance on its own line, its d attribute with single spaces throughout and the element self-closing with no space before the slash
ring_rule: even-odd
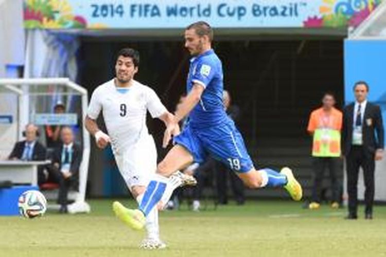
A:
<svg viewBox="0 0 386 257">
<path fill-rule="evenodd" d="M 37 190 L 28 190 L 19 197 L 20 215 L 26 218 L 42 216 L 47 210 L 47 200 Z"/>
</svg>

